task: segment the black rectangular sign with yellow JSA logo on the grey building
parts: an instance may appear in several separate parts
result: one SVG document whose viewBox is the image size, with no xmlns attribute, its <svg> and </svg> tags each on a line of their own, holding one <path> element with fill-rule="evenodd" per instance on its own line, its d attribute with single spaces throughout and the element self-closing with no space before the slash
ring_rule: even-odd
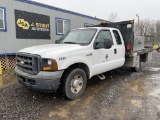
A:
<svg viewBox="0 0 160 120">
<path fill-rule="evenodd" d="M 18 39 L 51 39 L 47 15 L 15 10 L 15 24 Z"/>
</svg>

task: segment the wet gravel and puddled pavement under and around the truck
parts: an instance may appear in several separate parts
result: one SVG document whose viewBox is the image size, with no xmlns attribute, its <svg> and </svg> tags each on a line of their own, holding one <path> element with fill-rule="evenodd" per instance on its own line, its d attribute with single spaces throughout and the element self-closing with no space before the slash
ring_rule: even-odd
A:
<svg viewBox="0 0 160 120">
<path fill-rule="evenodd" d="M 14 75 L 0 78 L 0 120 L 160 120 L 160 53 L 133 73 L 121 68 L 93 77 L 79 99 L 28 90 Z M 3 87 L 2 87 L 3 86 Z"/>
</svg>

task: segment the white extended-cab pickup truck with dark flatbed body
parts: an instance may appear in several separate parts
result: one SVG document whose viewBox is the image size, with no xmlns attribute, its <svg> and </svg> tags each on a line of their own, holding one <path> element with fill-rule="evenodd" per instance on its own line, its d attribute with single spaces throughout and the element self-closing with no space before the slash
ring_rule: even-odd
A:
<svg viewBox="0 0 160 120">
<path fill-rule="evenodd" d="M 55 44 L 33 46 L 17 53 L 19 83 L 35 90 L 55 91 L 68 99 L 80 97 L 87 80 L 122 66 L 138 71 L 152 59 L 152 48 L 134 36 L 134 21 L 102 23 L 74 29 Z"/>
</svg>

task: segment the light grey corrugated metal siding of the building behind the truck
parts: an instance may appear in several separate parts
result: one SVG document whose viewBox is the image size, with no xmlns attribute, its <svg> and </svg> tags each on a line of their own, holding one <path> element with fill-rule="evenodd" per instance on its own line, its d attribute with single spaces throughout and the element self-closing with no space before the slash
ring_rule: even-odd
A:
<svg viewBox="0 0 160 120">
<path fill-rule="evenodd" d="M 7 32 L 0 31 L 0 54 L 16 53 L 17 51 L 25 47 L 54 43 L 56 39 L 61 37 L 61 35 L 56 35 L 56 23 L 55 23 L 56 17 L 69 19 L 71 24 L 71 29 L 83 27 L 84 23 L 91 23 L 91 24 L 99 23 L 98 19 L 97 20 L 90 19 L 87 17 L 56 11 L 53 9 L 36 6 L 24 2 L 19 2 L 15 0 L 0 0 L 0 7 L 6 8 L 6 20 L 7 20 Z M 15 9 L 50 16 L 51 40 L 16 39 L 15 13 L 14 13 Z"/>
</svg>

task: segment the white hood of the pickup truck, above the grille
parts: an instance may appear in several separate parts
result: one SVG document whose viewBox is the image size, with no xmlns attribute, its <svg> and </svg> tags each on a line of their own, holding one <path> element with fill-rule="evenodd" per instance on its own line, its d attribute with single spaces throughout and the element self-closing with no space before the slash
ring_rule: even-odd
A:
<svg viewBox="0 0 160 120">
<path fill-rule="evenodd" d="M 47 44 L 40 46 L 33 46 L 20 50 L 19 52 L 37 54 L 43 58 L 53 58 L 55 55 L 74 52 L 81 49 L 83 46 L 78 44 Z"/>
</svg>

